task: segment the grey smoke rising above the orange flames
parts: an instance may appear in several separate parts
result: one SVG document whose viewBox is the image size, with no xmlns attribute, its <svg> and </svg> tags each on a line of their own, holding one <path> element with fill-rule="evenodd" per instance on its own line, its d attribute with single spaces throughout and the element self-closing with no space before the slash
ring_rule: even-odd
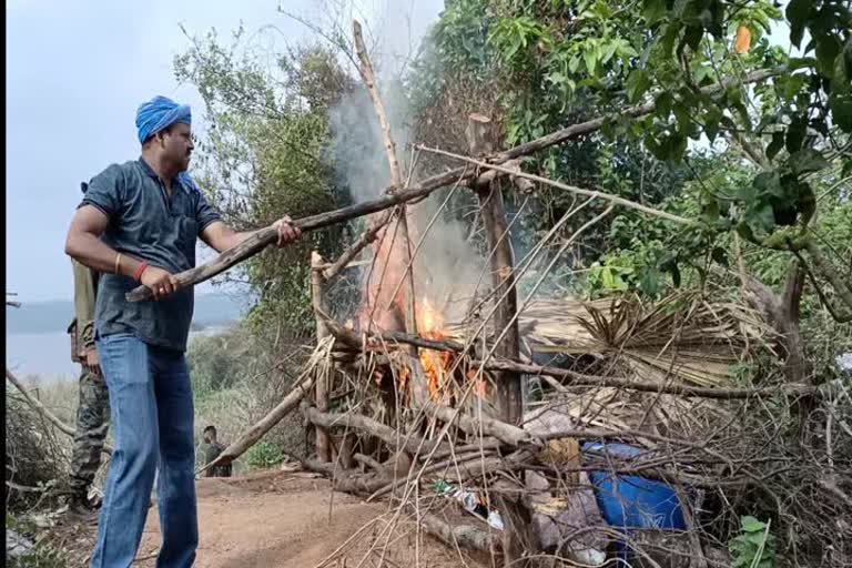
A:
<svg viewBox="0 0 852 568">
<path fill-rule="evenodd" d="M 428 26 L 435 21 L 442 2 L 410 2 L 408 10 L 399 3 L 387 2 L 372 21 L 365 21 L 365 30 L 374 37 L 375 48 L 371 60 L 378 77 L 377 87 L 385 105 L 396 143 L 397 159 L 408 175 L 412 155 L 412 108 L 400 81 L 400 72 L 417 53 Z M 402 7 L 404 8 L 404 7 Z M 365 38 L 368 47 L 371 38 Z M 367 91 L 359 87 L 346 95 L 331 112 L 331 156 L 338 179 L 348 186 L 356 202 L 373 200 L 389 185 L 382 131 L 376 111 Z M 416 175 L 412 176 L 416 182 Z M 427 200 L 408 207 L 412 248 L 425 234 L 414 264 L 415 294 L 417 301 L 428 298 L 433 306 L 444 308 L 444 316 L 459 318 L 467 307 L 464 300 L 473 293 L 480 276 L 483 258 L 466 243 L 467 230 L 443 211 L 432 227 L 426 227 L 447 196 L 440 190 Z M 459 187 L 456 191 L 467 191 Z M 381 267 L 376 267 L 381 271 Z M 398 275 L 390 275 L 383 284 L 395 288 Z M 486 278 L 487 284 L 487 278 Z M 447 301 L 450 300 L 449 303 Z M 379 306 L 384 308 L 384 306 Z"/>
</svg>

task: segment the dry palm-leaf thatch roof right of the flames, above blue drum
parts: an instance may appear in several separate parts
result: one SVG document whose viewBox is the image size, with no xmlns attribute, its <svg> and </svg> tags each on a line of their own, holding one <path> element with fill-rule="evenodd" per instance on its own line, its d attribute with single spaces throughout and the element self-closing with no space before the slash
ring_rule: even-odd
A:
<svg viewBox="0 0 852 568">
<path fill-rule="evenodd" d="M 478 324 L 454 325 L 450 335 L 464 339 Z M 754 311 L 697 293 L 656 303 L 542 298 L 521 313 L 519 328 L 528 356 L 591 355 L 637 379 L 701 386 L 728 383 L 731 367 L 750 359 L 773 334 Z"/>
</svg>

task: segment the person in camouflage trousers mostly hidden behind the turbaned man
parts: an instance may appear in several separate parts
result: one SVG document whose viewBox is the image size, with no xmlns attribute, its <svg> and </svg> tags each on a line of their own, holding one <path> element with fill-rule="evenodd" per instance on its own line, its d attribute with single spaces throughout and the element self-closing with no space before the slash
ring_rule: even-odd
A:
<svg viewBox="0 0 852 568">
<path fill-rule="evenodd" d="M 88 185 L 81 184 L 83 193 Z M 110 419 L 110 399 L 103 379 L 98 352 L 94 348 L 94 298 L 98 291 L 98 273 L 79 262 L 71 261 L 74 275 L 74 320 L 71 334 L 71 358 L 80 363 L 80 390 L 77 406 L 74 446 L 71 452 L 69 509 L 88 513 L 98 507 L 89 500 L 89 489 L 101 465 L 101 452 L 106 438 Z"/>
</svg>

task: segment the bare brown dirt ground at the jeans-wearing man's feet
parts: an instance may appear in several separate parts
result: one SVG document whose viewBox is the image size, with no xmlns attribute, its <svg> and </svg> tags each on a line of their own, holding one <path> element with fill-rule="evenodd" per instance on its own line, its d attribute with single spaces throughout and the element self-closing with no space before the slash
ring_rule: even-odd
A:
<svg viewBox="0 0 852 568">
<path fill-rule="evenodd" d="M 412 523 L 396 524 L 388 538 L 386 532 L 382 534 L 393 515 L 386 503 L 368 504 L 332 491 L 326 479 L 313 474 L 276 470 L 230 479 L 200 479 L 196 488 L 196 568 L 484 566 L 483 558 L 462 557 L 427 535 L 420 534 L 418 538 Z M 361 530 L 365 525 L 369 526 Z M 75 548 L 80 551 L 72 562 L 79 564 L 71 566 L 84 566 L 91 552 L 89 548 L 87 556 L 82 555 L 81 548 L 93 544 L 95 528 L 87 530 L 88 538 L 81 539 L 79 532 L 75 536 Z M 134 566 L 153 568 L 159 546 L 156 507 L 152 507 Z"/>
</svg>

